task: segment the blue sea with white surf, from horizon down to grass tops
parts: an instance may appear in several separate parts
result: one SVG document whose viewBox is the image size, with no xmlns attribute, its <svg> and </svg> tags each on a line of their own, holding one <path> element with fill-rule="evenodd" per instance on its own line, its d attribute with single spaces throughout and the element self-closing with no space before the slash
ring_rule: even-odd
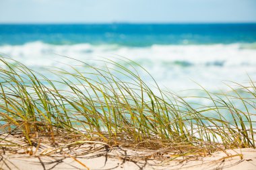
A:
<svg viewBox="0 0 256 170">
<path fill-rule="evenodd" d="M 1 24 L 0 54 L 38 70 L 125 57 L 175 93 L 214 92 L 256 80 L 256 24 Z"/>
</svg>

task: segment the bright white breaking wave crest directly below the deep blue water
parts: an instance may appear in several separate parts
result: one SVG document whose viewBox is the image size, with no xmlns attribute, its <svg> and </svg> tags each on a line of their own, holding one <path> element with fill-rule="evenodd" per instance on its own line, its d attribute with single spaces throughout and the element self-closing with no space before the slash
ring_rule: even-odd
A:
<svg viewBox="0 0 256 170">
<path fill-rule="evenodd" d="M 71 56 L 79 60 L 97 59 L 99 56 L 124 56 L 143 65 L 170 67 L 205 66 L 256 66 L 256 43 L 253 44 L 212 44 L 212 45 L 158 45 L 148 47 L 119 46 L 117 44 L 92 45 L 72 44 L 53 45 L 43 42 L 30 42 L 24 45 L 0 46 L 3 55 L 25 60 L 34 65 L 51 64 L 49 58 L 55 54 Z M 38 62 L 45 60 L 45 62 Z"/>
</svg>

